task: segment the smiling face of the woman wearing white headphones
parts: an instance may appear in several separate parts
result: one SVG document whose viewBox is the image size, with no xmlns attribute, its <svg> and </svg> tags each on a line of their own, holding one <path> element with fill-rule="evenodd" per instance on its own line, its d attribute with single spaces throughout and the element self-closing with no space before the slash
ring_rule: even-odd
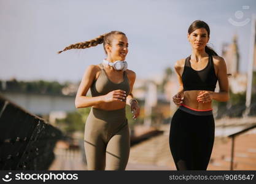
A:
<svg viewBox="0 0 256 184">
<path fill-rule="evenodd" d="M 128 39 L 123 34 L 113 36 L 112 45 L 106 45 L 107 58 L 110 61 L 125 61 L 128 53 Z"/>
</svg>

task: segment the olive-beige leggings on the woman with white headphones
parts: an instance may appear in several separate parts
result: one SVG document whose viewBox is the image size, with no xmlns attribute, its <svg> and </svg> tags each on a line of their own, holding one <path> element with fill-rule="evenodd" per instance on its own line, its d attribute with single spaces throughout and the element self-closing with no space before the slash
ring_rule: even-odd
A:
<svg viewBox="0 0 256 184">
<path fill-rule="evenodd" d="M 91 108 L 84 137 L 88 170 L 125 170 L 130 153 L 125 109 Z"/>
</svg>

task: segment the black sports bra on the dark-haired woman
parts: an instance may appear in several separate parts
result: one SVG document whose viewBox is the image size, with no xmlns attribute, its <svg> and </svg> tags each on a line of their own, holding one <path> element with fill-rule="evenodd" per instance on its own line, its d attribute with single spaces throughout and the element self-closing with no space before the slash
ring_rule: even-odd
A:
<svg viewBox="0 0 256 184">
<path fill-rule="evenodd" d="M 185 60 L 184 71 L 182 73 L 184 91 L 214 91 L 218 79 L 215 74 L 212 56 L 209 55 L 207 66 L 200 71 L 196 71 L 191 67 L 190 56 L 188 56 Z"/>
</svg>

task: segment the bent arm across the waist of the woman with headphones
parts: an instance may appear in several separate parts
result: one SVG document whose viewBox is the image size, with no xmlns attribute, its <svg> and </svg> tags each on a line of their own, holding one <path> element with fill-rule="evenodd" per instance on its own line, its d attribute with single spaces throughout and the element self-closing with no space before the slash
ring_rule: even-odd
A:
<svg viewBox="0 0 256 184">
<path fill-rule="evenodd" d="M 125 98 L 125 93 L 122 90 L 111 91 L 103 96 L 86 96 L 89 88 L 91 87 L 91 84 L 93 83 L 93 80 L 95 79 L 97 72 L 98 66 L 95 65 L 90 65 L 85 70 L 76 94 L 76 108 L 91 107 L 93 105 L 101 104 L 103 102 L 123 101 L 123 99 Z"/>
</svg>

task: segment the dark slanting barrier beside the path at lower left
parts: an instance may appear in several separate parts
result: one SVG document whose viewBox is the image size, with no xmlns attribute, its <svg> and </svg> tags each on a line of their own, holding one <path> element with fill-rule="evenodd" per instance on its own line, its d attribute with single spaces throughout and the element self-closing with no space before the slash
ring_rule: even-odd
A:
<svg viewBox="0 0 256 184">
<path fill-rule="evenodd" d="M 0 96 L 0 170 L 47 170 L 59 129 Z"/>
</svg>

